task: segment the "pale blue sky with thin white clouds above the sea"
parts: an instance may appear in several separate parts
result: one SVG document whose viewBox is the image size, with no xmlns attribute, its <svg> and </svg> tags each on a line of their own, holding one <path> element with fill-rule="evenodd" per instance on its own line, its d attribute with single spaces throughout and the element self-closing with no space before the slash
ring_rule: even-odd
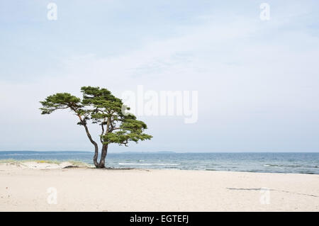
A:
<svg viewBox="0 0 319 226">
<path fill-rule="evenodd" d="M 152 140 L 109 152 L 319 151 L 318 1 L 1 0 L 0 50 L 2 151 L 93 151 L 76 116 L 38 109 L 81 86 L 198 92 L 195 123 L 140 115 Z"/>
</svg>

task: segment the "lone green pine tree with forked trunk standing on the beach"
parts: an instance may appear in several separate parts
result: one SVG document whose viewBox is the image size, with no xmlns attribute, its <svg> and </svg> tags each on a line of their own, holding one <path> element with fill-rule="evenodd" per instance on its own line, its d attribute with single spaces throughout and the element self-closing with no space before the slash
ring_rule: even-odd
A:
<svg viewBox="0 0 319 226">
<path fill-rule="evenodd" d="M 117 143 L 118 145 L 128 145 L 128 142 L 138 142 L 139 140 L 150 140 L 151 135 L 144 133 L 147 125 L 137 120 L 135 115 L 123 113 L 123 102 L 116 98 L 107 89 L 99 87 L 83 86 L 81 88 L 83 98 L 72 96 L 68 93 L 57 93 L 47 96 L 42 104 L 42 114 L 50 114 L 58 109 L 69 109 L 79 118 L 78 125 L 85 129 L 87 137 L 94 145 L 93 162 L 97 168 L 105 167 L 108 145 Z M 123 108 L 124 107 L 124 108 Z M 129 110 L 129 108 L 126 108 Z M 87 124 L 89 121 L 101 127 L 101 158 L 98 162 L 99 146 L 93 140 Z"/>
</svg>

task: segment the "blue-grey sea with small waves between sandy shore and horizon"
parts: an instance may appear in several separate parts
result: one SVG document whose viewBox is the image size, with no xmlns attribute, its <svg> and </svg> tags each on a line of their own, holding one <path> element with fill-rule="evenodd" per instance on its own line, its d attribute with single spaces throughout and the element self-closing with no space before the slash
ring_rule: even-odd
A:
<svg viewBox="0 0 319 226">
<path fill-rule="evenodd" d="M 92 164 L 92 152 L 0 152 L 0 159 L 77 160 Z M 116 168 L 195 169 L 319 174 L 319 153 L 109 153 Z"/>
</svg>

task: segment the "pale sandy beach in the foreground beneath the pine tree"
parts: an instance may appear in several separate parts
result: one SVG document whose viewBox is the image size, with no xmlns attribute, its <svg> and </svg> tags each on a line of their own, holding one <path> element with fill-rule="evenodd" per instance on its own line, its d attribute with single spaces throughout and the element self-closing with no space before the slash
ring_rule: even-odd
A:
<svg viewBox="0 0 319 226">
<path fill-rule="evenodd" d="M 319 211 L 319 175 L 1 163 L 0 211 Z"/>
</svg>

